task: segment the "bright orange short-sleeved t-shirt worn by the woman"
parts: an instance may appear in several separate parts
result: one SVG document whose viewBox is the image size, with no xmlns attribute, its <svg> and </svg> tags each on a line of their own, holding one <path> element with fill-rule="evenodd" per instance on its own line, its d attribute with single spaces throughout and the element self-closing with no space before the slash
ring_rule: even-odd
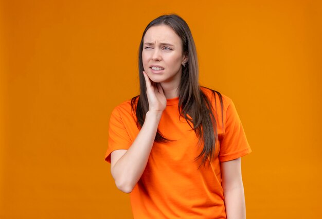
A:
<svg viewBox="0 0 322 219">
<path fill-rule="evenodd" d="M 233 160 L 252 152 L 248 145 L 234 103 L 223 97 L 217 106 L 210 89 L 201 87 L 213 108 L 219 141 L 211 165 L 201 166 L 193 161 L 203 148 L 184 118 L 179 117 L 178 97 L 167 99 L 158 129 L 170 143 L 154 142 L 144 173 L 130 193 L 134 218 L 226 218 L 221 185 L 220 162 Z M 115 107 L 110 118 L 109 147 L 105 160 L 111 162 L 111 152 L 129 149 L 139 133 L 131 100 Z"/>
</svg>

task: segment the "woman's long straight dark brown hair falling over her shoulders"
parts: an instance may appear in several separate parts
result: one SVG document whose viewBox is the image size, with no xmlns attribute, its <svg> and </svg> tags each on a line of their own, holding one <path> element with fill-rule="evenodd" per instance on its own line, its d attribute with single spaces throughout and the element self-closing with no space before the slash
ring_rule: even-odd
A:
<svg viewBox="0 0 322 219">
<path fill-rule="evenodd" d="M 191 129 L 193 129 L 196 136 L 198 136 L 198 145 L 200 146 L 202 142 L 204 143 L 202 152 L 195 159 L 203 157 L 201 165 L 205 165 L 207 159 L 210 158 L 210 160 L 212 160 L 214 156 L 214 147 L 216 141 L 218 140 L 217 121 L 213 115 L 213 108 L 210 100 L 200 89 L 198 58 L 190 28 L 188 24 L 176 14 L 162 15 L 157 17 L 150 24 L 148 24 L 142 34 L 138 54 L 140 95 L 132 98 L 132 110 L 136 113 L 137 126 L 140 129 L 145 121 L 145 115 L 149 110 L 149 102 L 146 93 L 146 82 L 142 73 L 142 71 L 144 71 L 142 62 L 144 36 L 150 27 L 162 24 L 168 25 L 175 31 L 178 36 L 180 36 L 182 40 L 183 53 L 188 55 L 188 62 L 186 66 L 183 66 L 181 81 L 178 89 L 178 111 L 180 113 L 180 116 L 186 119 Z M 223 114 L 222 95 L 215 90 L 211 91 L 213 93 L 215 105 L 217 104 L 216 94 L 219 96 L 222 111 L 221 113 Z M 155 136 L 155 141 L 169 142 L 171 140 L 163 136 L 162 133 L 160 133 L 158 130 Z"/>
</svg>

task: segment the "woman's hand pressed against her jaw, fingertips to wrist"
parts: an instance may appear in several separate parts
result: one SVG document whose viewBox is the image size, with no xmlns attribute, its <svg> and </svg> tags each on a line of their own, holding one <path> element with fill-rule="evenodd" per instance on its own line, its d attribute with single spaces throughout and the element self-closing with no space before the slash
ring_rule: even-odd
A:
<svg viewBox="0 0 322 219">
<path fill-rule="evenodd" d="M 164 95 L 163 88 L 160 83 L 151 81 L 145 71 L 143 71 L 143 75 L 147 85 L 149 111 L 162 113 L 167 106 L 167 98 Z"/>
</svg>

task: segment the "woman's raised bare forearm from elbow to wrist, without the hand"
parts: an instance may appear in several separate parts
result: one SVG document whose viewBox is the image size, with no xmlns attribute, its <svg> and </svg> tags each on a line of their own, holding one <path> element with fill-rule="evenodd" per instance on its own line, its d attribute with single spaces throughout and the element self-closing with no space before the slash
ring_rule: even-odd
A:
<svg viewBox="0 0 322 219">
<path fill-rule="evenodd" d="M 150 156 L 162 112 L 147 112 L 144 124 L 129 150 L 111 169 L 115 184 L 130 193 L 143 174 Z"/>
</svg>

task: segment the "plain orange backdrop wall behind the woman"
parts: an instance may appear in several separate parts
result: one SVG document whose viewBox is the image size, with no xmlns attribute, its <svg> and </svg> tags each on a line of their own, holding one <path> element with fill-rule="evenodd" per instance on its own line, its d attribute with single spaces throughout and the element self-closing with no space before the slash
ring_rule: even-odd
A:
<svg viewBox="0 0 322 219">
<path fill-rule="evenodd" d="M 322 218 L 320 1 L 2 1 L 0 218 L 131 218 L 104 161 L 155 17 L 189 24 L 200 81 L 236 104 L 247 218 Z"/>
</svg>

